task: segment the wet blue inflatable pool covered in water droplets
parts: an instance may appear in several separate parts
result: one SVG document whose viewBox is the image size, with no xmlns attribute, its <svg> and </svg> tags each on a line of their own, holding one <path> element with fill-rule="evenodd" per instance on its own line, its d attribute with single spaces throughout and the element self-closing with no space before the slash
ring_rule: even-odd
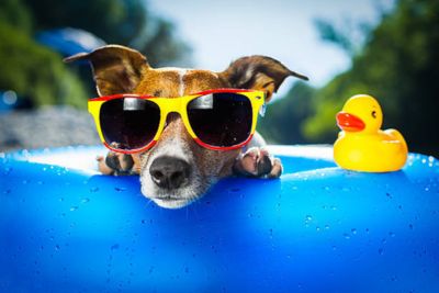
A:
<svg viewBox="0 0 439 293">
<path fill-rule="evenodd" d="M 280 180 L 164 210 L 137 177 L 23 160 L 63 151 L 102 149 L 0 157 L 0 292 L 439 292 L 432 157 L 359 173 L 290 147 Z"/>
</svg>

